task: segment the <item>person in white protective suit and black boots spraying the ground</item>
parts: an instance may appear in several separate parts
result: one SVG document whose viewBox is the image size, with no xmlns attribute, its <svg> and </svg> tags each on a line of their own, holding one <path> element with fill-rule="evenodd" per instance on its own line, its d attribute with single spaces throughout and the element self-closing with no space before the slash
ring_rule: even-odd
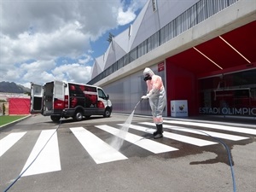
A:
<svg viewBox="0 0 256 192">
<path fill-rule="evenodd" d="M 163 117 L 162 113 L 166 107 L 166 90 L 163 81 L 159 75 L 146 67 L 143 71 L 144 81 L 148 86 L 148 92 L 146 96 L 142 96 L 142 99 L 148 99 L 149 105 L 152 110 L 154 124 L 157 130 L 154 131 L 154 138 L 163 137 Z"/>
</svg>

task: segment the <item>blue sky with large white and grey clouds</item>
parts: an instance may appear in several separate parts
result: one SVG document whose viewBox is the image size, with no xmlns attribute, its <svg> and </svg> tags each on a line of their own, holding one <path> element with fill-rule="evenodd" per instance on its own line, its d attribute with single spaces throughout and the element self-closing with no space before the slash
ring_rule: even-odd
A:
<svg viewBox="0 0 256 192">
<path fill-rule="evenodd" d="M 86 84 L 147 0 L 0 0 L 0 82 Z"/>
</svg>

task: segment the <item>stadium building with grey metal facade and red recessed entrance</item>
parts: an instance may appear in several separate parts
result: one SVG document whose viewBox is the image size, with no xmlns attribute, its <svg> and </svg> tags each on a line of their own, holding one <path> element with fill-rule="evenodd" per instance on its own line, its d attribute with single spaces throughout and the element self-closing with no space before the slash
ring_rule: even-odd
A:
<svg viewBox="0 0 256 192">
<path fill-rule="evenodd" d="M 166 116 L 256 118 L 256 1 L 148 0 L 96 58 L 89 84 L 131 113 L 150 67 L 166 87 Z M 151 114 L 148 102 L 137 114 Z"/>
</svg>

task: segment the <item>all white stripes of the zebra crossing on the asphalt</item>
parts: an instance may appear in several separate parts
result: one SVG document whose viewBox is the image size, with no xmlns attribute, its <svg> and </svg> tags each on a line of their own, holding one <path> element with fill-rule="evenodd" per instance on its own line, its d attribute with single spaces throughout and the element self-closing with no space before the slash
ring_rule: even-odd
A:
<svg viewBox="0 0 256 192">
<path fill-rule="evenodd" d="M 193 129 L 190 128 L 189 125 L 193 125 Z M 173 151 L 182 150 L 182 148 L 173 147 L 171 144 L 160 143 L 161 140 L 146 138 L 134 133 L 137 131 L 141 132 L 141 135 L 143 135 L 143 133 L 153 133 L 155 131 L 155 125 L 153 123 L 137 122 L 131 124 L 130 130 L 128 132 L 122 132 L 122 134 L 120 134 L 120 126 L 122 126 L 122 124 L 113 126 L 95 125 L 94 129 L 106 132 L 106 134 L 110 134 L 113 137 L 119 137 L 121 140 L 131 143 L 137 148 L 143 148 L 152 154 L 172 153 Z M 72 136 L 76 138 L 75 141 L 78 141 L 84 148 L 83 153 L 90 154 L 91 159 L 94 160 L 96 164 L 129 159 L 129 157 L 125 156 L 124 150 L 114 148 L 109 141 L 104 141 L 102 138 L 96 136 L 92 129 L 87 129 L 82 126 L 70 127 L 68 129 L 73 133 Z M 243 133 L 243 136 L 239 136 L 241 133 Z M 1 139 L 0 160 L 3 155 L 8 154 L 10 148 L 15 146 L 19 141 L 22 141 L 22 138 L 26 134 L 27 131 L 14 132 Z M 196 147 L 214 146 L 218 144 L 209 136 L 237 142 L 256 136 L 256 130 L 230 125 L 165 120 L 164 139 L 175 140 L 179 143 L 185 143 Z M 38 140 L 32 148 L 32 152 L 28 156 L 26 163 L 20 172 L 20 174 L 22 173 L 22 177 L 61 171 L 59 138 L 60 136 L 58 136 L 57 129 L 41 131 Z"/>
</svg>

